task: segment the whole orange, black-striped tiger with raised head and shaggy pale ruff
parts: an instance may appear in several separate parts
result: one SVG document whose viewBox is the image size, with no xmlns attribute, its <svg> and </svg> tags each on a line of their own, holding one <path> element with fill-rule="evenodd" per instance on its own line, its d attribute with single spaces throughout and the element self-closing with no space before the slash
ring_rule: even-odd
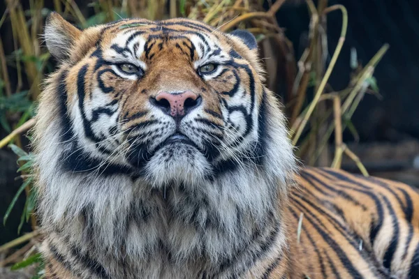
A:
<svg viewBox="0 0 419 279">
<path fill-rule="evenodd" d="M 304 167 L 258 42 L 185 18 L 44 33 L 46 278 L 419 278 L 419 195 Z"/>
</svg>

